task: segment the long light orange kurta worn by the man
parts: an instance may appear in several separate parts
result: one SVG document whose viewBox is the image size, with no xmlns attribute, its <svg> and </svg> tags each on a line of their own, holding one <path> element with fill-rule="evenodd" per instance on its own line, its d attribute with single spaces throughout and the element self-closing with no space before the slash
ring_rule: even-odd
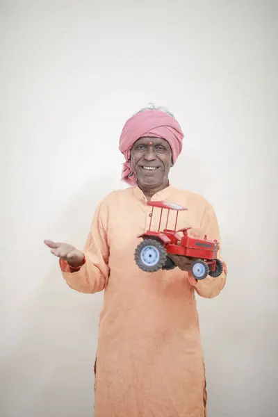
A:
<svg viewBox="0 0 278 417">
<path fill-rule="evenodd" d="M 220 240 L 213 208 L 195 193 L 168 186 L 152 200 L 186 206 L 177 228 L 193 227 Z M 149 227 L 152 207 L 136 186 L 117 190 L 97 206 L 85 244 L 85 264 L 65 272 L 67 284 L 82 293 L 105 288 L 99 321 L 95 417 L 204 417 L 206 389 L 195 291 L 215 297 L 220 277 L 188 280 L 174 270 L 143 272 L 134 261 L 137 238 Z M 167 211 L 165 211 L 165 216 Z M 152 229 L 160 209 L 154 209 Z M 162 226 L 163 221 L 162 219 Z M 168 228 L 174 227 L 170 211 Z M 221 256 L 219 256 L 221 259 Z"/>
</svg>

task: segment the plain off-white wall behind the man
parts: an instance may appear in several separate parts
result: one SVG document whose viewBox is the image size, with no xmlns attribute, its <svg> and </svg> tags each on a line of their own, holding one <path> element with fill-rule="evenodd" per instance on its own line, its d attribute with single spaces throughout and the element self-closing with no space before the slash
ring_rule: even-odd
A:
<svg viewBox="0 0 278 417">
<path fill-rule="evenodd" d="M 82 249 L 150 101 L 183 127 L 171 182 L 213 204 L 229 267 L 198 298 L 208 417 L 277 416 L 277 3 L 0 7 L 1 416 L 93 415 L 102 294 L 68 288 L 43 240 Z"/>
</svg>

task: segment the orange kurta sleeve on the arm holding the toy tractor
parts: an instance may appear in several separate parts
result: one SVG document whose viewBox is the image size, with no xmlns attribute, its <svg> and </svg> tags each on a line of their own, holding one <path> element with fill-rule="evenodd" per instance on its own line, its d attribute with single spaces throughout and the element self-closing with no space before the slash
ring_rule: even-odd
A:
<svg viewBox="0 0 278 417">
<path fill-rule="evenodd" d="M 210 240 L 218 240 L 220 243 L 220 250 L 218 251 L 218 259 L 223 262 L 223 272 L 217 277 L 213 278 L 208 275 L 204 279 L 196 281 L 193 277 L 190 277 L 190 282 L 195 286 L 197 294 L 205 298 L 216 297 L 220 291 L 224 288 L 227 280 L 227 264 L 222 260 L 221 256 L 221 242 L 220 242 L 220 231 L 218 227 L 218 220 L 215 215 L 213 207 L 208 204 L 204 210 L 202 218 L 201 231 L 204 236 L 206 234 Z"/>
</svg>

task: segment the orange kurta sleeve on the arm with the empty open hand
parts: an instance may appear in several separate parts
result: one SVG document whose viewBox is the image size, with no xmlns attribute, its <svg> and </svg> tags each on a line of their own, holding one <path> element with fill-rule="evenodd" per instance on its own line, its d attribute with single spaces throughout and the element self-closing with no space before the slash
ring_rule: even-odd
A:
<svg viewBox="0 0 278 417">
<path fill-rule="evenodd" d="M 107 208 L 100 203 L 85 242 L 85 263 L 79 270 L 72 270 L 67 261 L 60 259 L 60 268 L 67 285 L 79 293 L 97 293 L 102 291 L 108 283 L 110 269 L 107 218 Z"/>
</svg>

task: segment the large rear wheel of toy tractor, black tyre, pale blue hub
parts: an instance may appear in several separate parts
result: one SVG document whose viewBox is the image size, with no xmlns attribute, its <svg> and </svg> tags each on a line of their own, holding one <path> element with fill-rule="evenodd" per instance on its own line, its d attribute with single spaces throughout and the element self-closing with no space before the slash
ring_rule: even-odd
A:
<svg viewBox="0 0 278 417">
<path fill-rule="evenodd" d="M 165 265 L 166 251 L 163 245 L 155 239 L 144 239 L 135 251 L 135 261 L 145 272 L 158 271 Z"/>
</svg>

